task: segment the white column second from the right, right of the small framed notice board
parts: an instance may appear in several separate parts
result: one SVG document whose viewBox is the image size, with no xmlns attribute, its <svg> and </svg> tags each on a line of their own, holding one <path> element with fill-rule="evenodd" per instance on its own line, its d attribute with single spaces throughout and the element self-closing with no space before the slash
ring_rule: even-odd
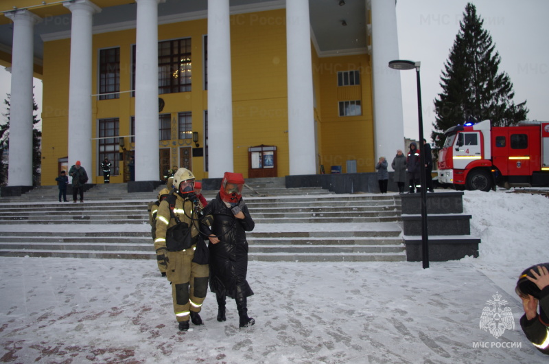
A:
<svg viewBox="0 0 549 364">
<path fill-rule="evenodd" d="M 308 0 L 286 0 L 290 175 L 316 174 Z"/>
</svg>

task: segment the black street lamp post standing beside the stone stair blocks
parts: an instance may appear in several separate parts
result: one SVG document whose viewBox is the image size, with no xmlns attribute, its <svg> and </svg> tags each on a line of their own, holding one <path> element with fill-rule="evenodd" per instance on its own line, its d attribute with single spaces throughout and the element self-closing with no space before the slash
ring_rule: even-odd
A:
<svg viewBox="0 0 549 364">
<path fill-rule="evenodd" d="M 419 82 L 419 67 L 421 62 L 413 62 L 412 60 L 391 60 L 389 68 L 406 71 L 408 69 L 416 69 L 417 80 L 417 115 L 419 122 L 419 144 L 423 145 L 423 113 L 421 111 L 421 83 Z M 419 151 L 419 181 L 421 183 L 421 256 L 423 258 L 423 269 L 429 268 L 429 235 L 427 233 L 427 177 L 425 176 L 425 153 L 424 148 Z"/>
</svg>

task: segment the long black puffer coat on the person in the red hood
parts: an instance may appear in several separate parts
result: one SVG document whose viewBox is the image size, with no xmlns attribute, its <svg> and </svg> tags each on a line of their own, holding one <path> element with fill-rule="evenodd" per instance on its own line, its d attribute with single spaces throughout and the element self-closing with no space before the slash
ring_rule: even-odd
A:
<svg viewBox="0 0 549 364">
<path fill-rule="evenodd" d="M 248 207 L 240 201 L 244 219 L 235 218 L 233 212 L 221 200 L 215 197 L 205 208 L 204 216 L 213 216 L 211 229 L 202 224 L 200 230 L 207 235 L 214 234 L 220 240 L 209 243 L 210 250 L 210 289 L 231 298 L 243 298 L 253 295 L 252 288 L 246 282 L 248 273 L 248 242 L 246 231 L 255 227 Z"/>
</svg>

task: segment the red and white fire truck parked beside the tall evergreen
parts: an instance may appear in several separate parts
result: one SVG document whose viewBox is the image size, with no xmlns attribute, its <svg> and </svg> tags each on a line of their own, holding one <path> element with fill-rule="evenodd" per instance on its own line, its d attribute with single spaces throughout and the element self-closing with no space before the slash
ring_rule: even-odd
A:
<svg viewBox="0 0 549 364">
<path fill-rule="evenodd" d="M 439 183 L 456 190 L 549 186 L 549 122 L 453 126 L 439 151 Z"/>
</svg>

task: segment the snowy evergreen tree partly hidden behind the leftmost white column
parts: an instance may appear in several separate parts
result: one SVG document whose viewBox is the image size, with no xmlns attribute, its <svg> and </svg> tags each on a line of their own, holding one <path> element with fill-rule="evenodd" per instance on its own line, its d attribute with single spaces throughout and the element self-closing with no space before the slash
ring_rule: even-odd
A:
<svg viewBox="0 0 549 364">
<path fill-rule="evenodd" d="M 0 183 L 8 182 L 8 165 L 3 163 L 3 153 L 5 150 L 10 150 L 10 94 L 4 100 L 6 105 L 6 113 L 2 114 L 7 120 L 5 124 L 0 126 Z M 34 111 L 38 111 L 38 105 L 32 98 L 32 124 L 40 122 L 38 115 Z M 40 182 L 40 166 L 42 163 L 42 152 L 40 151 L 40 137 L 42 132 L 35 128 L 32 129 L 32 184 L 38 185 Z"/>
</svg>

